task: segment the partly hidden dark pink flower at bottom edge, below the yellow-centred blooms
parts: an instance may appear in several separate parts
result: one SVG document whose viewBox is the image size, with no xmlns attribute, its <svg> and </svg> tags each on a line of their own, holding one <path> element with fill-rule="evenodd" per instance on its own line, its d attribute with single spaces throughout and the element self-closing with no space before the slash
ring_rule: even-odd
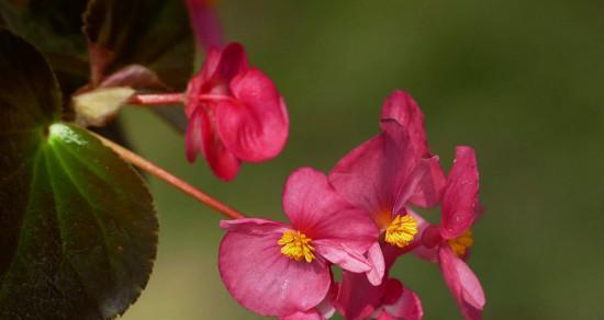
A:
<svg viewBox="0 0 604 320">
<path fill-rule="evenodd" d="M 388 274 L 400 252 L 395 247 L 382 243 L 385 258 L 385 278 L 373 286 L 361 274 L 345 272 L 335 301 L 336 309 L 346 319 L 368 317 L 377 319 L 422 319 L 424 311 L 417 295 Z"/>
</svg>

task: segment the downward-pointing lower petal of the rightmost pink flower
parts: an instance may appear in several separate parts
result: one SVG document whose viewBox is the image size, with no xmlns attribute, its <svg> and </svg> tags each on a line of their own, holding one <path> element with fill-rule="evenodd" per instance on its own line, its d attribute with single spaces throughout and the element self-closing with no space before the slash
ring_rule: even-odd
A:
<svg viewBox="0 0 604 320">
<path fill-rule="evenodd" d="M 448 245 L 438 250 L 440 272 L 466 319 L 480 319 L 485 298 L 480 281 L 472 270 L 457 258 Z M 478 318 L 477 318 L 478 317 Z"/>
</svg>

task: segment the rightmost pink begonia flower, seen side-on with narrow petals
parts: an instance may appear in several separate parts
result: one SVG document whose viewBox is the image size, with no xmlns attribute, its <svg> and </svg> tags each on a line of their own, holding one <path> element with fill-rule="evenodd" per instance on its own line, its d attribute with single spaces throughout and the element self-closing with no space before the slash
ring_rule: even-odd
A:
<svg viewBox="0 0 604 320">
<path fill-rule="evenodd" d="M 421 256 L 437 261 L 445 283 L 466 319 L 482 318 L 485 298 L 480 281 L 463 261 L 473 244 L 471 226 L 481 213 L 474 150 L 457 147 L 455 162 L 443 193 L 440 226 L 426 228 Z M 433 256 L 429 256 L 432 251 Z"/>
</svg>

